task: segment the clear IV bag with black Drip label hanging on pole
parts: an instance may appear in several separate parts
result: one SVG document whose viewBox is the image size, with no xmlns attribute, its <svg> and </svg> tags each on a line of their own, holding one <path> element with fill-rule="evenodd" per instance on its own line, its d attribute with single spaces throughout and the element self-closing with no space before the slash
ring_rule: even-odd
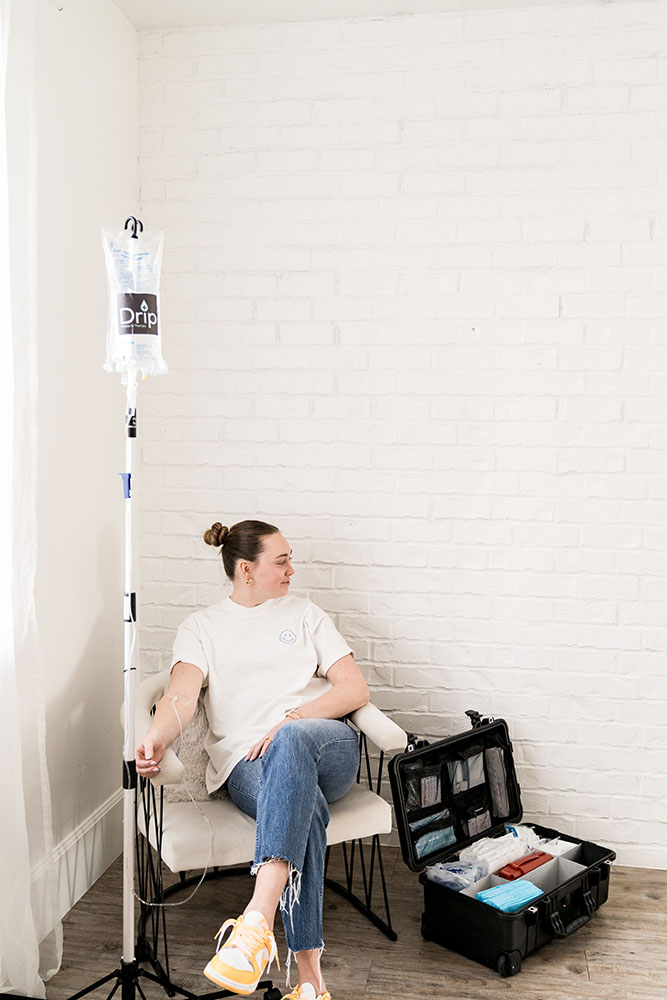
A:
<svg viewBox="0 0 667 1000">
<path fill-rule="evenodd" d="M 129 221 L 129 220 L 128 220 Z M 102 244 L 109 288 L 108 372 L 161 375 L 167 370 L 160 335 L 160 268 L 163 234 L 153 230 L 134 238 L 125 229 L 103 229 Z"/>
</svg>

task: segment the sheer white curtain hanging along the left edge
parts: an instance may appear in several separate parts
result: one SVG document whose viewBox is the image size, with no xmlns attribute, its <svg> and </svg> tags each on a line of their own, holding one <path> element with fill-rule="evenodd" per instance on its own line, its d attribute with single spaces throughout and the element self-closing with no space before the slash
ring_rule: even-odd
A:
<svg viewBox="0 0 667 1000">
<path fill-rule="evenodd" d="M 33 53 L 34 0 L 0 0 L 0 992 L 43 997 L 62 932 L 34 608 Z"/>
</svg>

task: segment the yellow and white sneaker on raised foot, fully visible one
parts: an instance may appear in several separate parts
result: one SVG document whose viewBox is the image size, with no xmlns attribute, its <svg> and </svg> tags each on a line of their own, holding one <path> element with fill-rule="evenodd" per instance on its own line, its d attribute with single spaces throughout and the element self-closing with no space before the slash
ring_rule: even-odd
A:
<svg viewBox="0 0 667 1000">
<path fill-rule="evenodd" d="M 223 944 L 223 935 L 230 927 L 232 933 Z M 218 950 L 204 969 L 204 975 L 216 986 L 232 993 L 254 993 L 274 958 L 280 968 L 276 939 L 259 910 L 226 920 L 216 937 Z"/>
</svg>

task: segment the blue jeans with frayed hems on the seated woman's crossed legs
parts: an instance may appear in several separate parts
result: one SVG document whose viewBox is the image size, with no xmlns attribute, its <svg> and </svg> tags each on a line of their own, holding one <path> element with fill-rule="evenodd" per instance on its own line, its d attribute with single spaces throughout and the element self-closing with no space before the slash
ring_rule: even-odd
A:
<svg viewBox="0 0 667 1000">
<path fill-rule="evenodd" d="M 298 719 L 280 727 L 263 757 L 240 761 L 227 779 L 232 801 L 257 820 L 253 872 L 276 858 L 289 864 L 280 909 L 292 952 L 323 946 L 327 803 L 352 787 L 358 767 L 350 726 Z"/>
</svg>

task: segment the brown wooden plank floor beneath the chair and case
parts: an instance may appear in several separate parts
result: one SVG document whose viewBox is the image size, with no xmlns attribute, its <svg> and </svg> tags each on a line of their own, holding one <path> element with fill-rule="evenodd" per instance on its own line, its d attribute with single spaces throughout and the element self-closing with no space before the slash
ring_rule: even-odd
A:
<svg viewBox="0 0 667 1000">
<path fill-rule="evenodd" d="M 573 937 L 555 941 L 524 961 L 518 976 L 497 973 L 426 942 L 420 934 L 422 889 L 396 849 L 385 848 L 391 942 L 345 900 L 325 893 L 323 970 L 333 1000 L 667 1000 L 667 871 L 614 867 L 609 900 Z M 47 1000 L 65 1000 L 119 965 L 121 863 L 116 861 L 65 919 L 61 971 Z M 250 876 L 201 886 L 186 905 L 170 909 L 172 978 L 193 992 L 213 987 L 201 975 L 220 923 L 236 916 L 250 894 Z M 178 898 L 178 897 L 175 897 Z M 282 928 L 277 934 L 285 954 Z M 284 976 L 272 969 L 274 982 Z M 143 981 L 149 1000 L 164 996 Z M 103 1000 L 109 986 L 94 997 Z M 262 994 L 255 994 L 257 998 Z M 117 994 L 120 1000 L 120 993 Z"/>
</svg>

